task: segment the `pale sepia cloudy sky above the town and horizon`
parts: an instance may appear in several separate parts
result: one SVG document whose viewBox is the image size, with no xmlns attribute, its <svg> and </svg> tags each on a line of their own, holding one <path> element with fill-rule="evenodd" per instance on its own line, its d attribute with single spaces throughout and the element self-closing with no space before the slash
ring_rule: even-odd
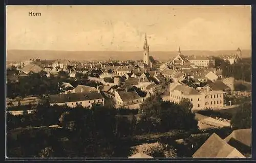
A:
<svg viewBox="0 0 256 163">
<path fill-rule="evenodd" d="M 40 12 L 41 16 L 29 16 Z M 7 50 L 251 49 L 250 6 L 7 6 Z"/>
</svg>

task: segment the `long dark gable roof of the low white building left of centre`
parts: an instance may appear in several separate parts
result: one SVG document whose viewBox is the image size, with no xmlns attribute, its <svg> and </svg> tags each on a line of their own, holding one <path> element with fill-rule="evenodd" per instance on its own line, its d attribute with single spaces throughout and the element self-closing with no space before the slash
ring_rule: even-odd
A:
<svg viewBox="0 0 256 163">
<path fill-rule="evenodd" d="M 50 95 L 50 103 L 65 103 L 85 100 L 101 99 L 103 96 L 98 92 L 90 93 L 71 93 L 71 94 L 56 94 Z"/>
</svg>

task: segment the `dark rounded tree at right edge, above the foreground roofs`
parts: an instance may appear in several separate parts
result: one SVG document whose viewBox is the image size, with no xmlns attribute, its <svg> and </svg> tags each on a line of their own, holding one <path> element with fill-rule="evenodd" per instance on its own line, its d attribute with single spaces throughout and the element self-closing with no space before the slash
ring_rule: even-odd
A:
<svg viewBox="0 0 256 163">
<path fill-rule="evenodd" d="M 251 128 L 251 103 L 240 105 L 237 113 L 231 119 L 234 128 Z"/>
</svg>

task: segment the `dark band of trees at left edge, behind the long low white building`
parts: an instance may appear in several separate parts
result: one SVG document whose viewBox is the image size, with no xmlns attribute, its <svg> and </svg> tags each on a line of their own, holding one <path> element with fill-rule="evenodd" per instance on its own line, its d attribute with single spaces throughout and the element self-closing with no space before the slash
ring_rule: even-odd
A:
<svg viewBox="0 0 256 163">
<path fill-rule="evenodd" d="M 67 78 L 63 76 L 64 71 L 59 71 L 59 75 L 46 77 L 46 72 L 30 73 L 28 76 L 19 77 L 19 82 L 7 83 L 7 97 L 15 98 L 17 96 L 25 97 L 27 95 L 57 94 L 62 82 L 70 83 L 76 87 L 78 84 L 96 87 L 98 84 L 88 80 L 87 76 L 80 76 L 78 79 Z"/>
</svg>

